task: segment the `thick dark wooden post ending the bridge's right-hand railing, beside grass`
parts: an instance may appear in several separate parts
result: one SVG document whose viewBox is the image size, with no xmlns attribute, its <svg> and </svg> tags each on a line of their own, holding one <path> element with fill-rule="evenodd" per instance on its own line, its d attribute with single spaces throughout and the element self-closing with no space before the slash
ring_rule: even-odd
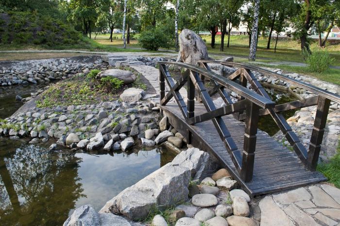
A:
<svg viewBox="0 0 340 226">
<path fill-rule="evenodd" d="M 330 102 L 330 99 L 319 96 L 318 107 L 316 109 L 314 120 L 314 128 L 312 131 L 312 136 L 310 137 L 306 163 L 307 168 L 311 171 L 315 171 L 318 164 Z"/>
</svg>

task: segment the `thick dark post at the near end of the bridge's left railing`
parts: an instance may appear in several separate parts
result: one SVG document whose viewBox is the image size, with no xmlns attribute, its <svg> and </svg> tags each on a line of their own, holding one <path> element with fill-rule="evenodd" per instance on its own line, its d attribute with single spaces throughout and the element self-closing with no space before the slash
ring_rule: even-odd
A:
<svg viewBox="0 0 340 226">
<path fill-rule="evenodd" d="M 240 176 L 245 182 L 249 182 L 253 178 L 259 108 L 250 100 L 247 100 L 246 106 L 246 125 L 244 129 L 242 168 Z"/>
</svg>

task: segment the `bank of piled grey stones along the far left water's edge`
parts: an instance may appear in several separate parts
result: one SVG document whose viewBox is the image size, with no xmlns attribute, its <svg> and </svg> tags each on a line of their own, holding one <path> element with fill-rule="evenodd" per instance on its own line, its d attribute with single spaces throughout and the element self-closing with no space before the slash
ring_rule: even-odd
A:
<svg viewBox="0 0 340 226">
<path fill-rule="evenodd" d="M 105 70 L 108 66 L 108 63 L 98 56 L 82 59 L 70 57 L 0 64 L 0 85 L 51 82 L 66 79 L 77 73 L 88 73 L 92 69 Z"/>
</svg>

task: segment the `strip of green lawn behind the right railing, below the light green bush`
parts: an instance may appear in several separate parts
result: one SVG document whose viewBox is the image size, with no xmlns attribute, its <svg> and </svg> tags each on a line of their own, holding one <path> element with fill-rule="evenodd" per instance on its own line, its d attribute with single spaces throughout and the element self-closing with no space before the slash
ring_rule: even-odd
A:
<svg viewBox="0 0 340 226">
<path fill-rule="evenodd" d="M 290 66 L 290 65 L 267 65 L 267 64 L 258 64 L 259 66 L 264 67 L 272 67 L 272 68 L 280 68 L 281 70 L 288 72 L 295 72 L 302 75 L 312 76 L 317 79 L 331 82 L 336 85 L 340 85 L 340 70 L 329 68 L 324 73 L 311 72 L 307 67 L 300 66 Z"/>
</svg>

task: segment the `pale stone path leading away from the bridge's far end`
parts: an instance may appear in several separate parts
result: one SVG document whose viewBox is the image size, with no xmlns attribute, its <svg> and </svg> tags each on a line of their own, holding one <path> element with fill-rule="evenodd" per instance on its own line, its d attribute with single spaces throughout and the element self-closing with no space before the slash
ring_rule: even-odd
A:
<svg viewBox="0 0 340 226">
<path fill-rule="evenodd" d="M 156 91 L 156 94 L 159 97 L 159 70 L 152 66 L 145 66 L 145 65 L 130 65 L 131 68 L 142 74 L 146 79 L 149 80 L 150 84 Z M 175 81 L 176 82 L 176 81 Z M 166 84 L 165 91 L 169 92 L 170 88 Z M 183 99 L 187 101 L 187 90 L 185 88 L 180 89 L 179 93 L 182 95 Z M 174 98 L 171 101 L 175 101 Z"/>
</svg>

